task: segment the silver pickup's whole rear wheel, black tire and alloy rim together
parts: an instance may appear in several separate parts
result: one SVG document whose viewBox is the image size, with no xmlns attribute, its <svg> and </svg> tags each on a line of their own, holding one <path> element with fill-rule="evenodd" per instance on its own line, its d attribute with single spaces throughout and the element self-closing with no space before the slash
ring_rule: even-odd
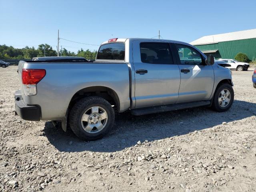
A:
<svg viewBox="0 0 256 192">
<path fill-rule="evenodd" d="M 82 140 L 97 140 L 106 135 L 114 124 L 110 103 L 98 96 L 79 100 L 70 111 L 70 127 Z"/>
</svg>

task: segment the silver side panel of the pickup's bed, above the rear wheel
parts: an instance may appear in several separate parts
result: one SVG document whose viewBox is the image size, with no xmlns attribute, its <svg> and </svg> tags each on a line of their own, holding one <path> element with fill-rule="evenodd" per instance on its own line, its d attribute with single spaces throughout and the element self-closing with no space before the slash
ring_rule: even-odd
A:
<svg viewBox="0 0 256 192">
<path fill-rule="evenodd" d="M 20 61 L 20 82 L 22 69 L 46 70 L 46 76 L 37 84 L 36 95 L 24 95 L 20 84 L 26 104 L 40 106 L 40 120 L 61 120 L 74 94 L 91 86 L 114 90 L 120 101 L 120 112 L 130 107 L 130 78 L 125 62 Z"/>
</svg>

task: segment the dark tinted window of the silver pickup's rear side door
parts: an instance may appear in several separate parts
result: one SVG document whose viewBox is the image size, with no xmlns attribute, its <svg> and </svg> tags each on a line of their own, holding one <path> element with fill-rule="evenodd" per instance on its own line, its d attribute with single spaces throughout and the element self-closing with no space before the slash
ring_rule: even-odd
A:
<svg viewBox="0 0 256 192">
<path fill-rule="evenodd" d="M 140 58 L 143 63 L 173 64 L 168 43 L 140 43 Z"/>
</svg>

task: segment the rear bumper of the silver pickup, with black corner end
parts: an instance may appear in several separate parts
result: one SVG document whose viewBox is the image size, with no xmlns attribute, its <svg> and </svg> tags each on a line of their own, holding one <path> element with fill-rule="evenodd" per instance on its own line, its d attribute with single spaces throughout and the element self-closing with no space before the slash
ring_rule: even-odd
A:
<svg viewBox="0 0 256 192">
<path fill-rule="evenodd" d="M 40 107 L 27 105 L 24 100 L 22 100 L 20 90 L 15 92 L 15 110 L 15 113 L 24 120 L 40 121 Z"/>
</svg>

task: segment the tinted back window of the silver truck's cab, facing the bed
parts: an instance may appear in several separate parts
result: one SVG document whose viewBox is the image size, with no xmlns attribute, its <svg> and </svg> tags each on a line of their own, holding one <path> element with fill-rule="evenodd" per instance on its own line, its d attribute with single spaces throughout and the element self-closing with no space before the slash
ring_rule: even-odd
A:
<svg viewBox="0 0 256 192">
<path fill-rule="evenodd" d="M 124 60 L 124 43 L 109 43 L 100 46 L 97 59 Z"/>
</svg>

